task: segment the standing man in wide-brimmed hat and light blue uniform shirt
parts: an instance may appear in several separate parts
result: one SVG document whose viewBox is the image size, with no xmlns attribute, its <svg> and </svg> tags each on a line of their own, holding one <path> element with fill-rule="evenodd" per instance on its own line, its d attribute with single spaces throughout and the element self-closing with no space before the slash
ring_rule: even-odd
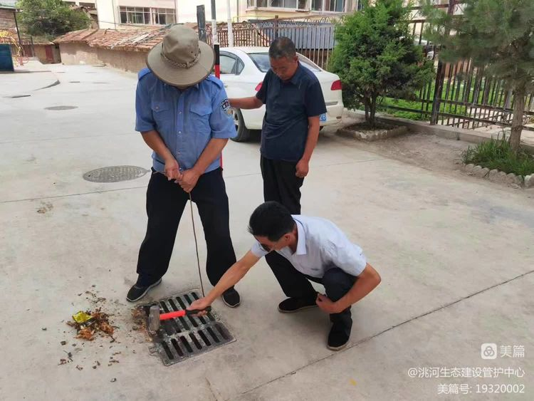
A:
<svg viewBox="0 0 534 401">
<path fill-rule="evenodd" d="M 147 234 L 137 261 L 134 302 L 162 281 L 187 200 L 197 204 L 204 226 L 206 272 L 212 285 L 236 262 L 221 151 L 236 136 L 221 81 L 210 75 L 214 52 L 191 28 L 173 26 L 147 57 L 135 97 L 135 130 L 154 151 L 147 189 Z M 233 287 L 222 294 L 239 305 Z"/>
</svg>

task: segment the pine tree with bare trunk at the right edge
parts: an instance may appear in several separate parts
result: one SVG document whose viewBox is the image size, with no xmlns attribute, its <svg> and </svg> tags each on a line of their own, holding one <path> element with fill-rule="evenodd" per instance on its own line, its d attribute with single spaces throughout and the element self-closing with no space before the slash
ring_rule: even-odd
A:
<svg viewBox="0 0 534 401">
<path fill-rule="evenodd" d="M 486 75 L 513 90 L 512 149 L 519 149 L 525 97 L 534 90 L 534 0 L 464 0 L 461 15 L 433 9 L 424 0 L 430 23 L 426 36 L 444 46 L 442 61 L 471 58 Z"/>
</svg>

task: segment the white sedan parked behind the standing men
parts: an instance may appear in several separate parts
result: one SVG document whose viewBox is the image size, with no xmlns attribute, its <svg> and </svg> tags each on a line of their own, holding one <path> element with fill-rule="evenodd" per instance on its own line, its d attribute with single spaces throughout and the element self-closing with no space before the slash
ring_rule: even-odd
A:
<svg viewBox="0 0 534 401">
<path fill-rule="evenodd" d="M 221 48 L 221 80 L 229 98 L 246 98 L 256 95 L 261 88 L 269 65 L 269 49 L 266 47 Z M 320 116 L 320 125 L 330 125 L 341 121 L 343 100 L 340 78 L 324 71 L 309 58 L 298 53 L 300 63 L 317 76 L 327 113 Z M 232 109 L 236 121 L 237 142 L 248 140 L 251 130 L 261 130 L 265 105 L 255 110 Z"/>
</svg>

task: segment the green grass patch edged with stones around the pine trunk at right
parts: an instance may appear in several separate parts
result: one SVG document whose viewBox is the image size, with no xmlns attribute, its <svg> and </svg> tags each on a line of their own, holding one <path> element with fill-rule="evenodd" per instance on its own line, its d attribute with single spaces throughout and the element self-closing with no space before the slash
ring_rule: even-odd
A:
<svg viewBox="0 0 534 401">
<path fill-rule="evenodd" d="M 468 147 L 462 153 L 462 159 L 466 165 L 479 165 L 489 170 L 497 169 L 506 174 L 513 172 L 523 177 L 534 174 L 534 157 L 523 150 L 513 152 L 506 135 L 500 139 L 492 138 L 476 147 Z"/>
</svg>

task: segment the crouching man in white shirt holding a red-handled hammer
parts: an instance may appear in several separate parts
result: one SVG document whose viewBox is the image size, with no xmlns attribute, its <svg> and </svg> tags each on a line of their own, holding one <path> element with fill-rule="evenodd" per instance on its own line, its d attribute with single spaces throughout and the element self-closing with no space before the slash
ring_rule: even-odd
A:
<svg viewBox="0 0 534 401">
<path fill-rule="evenodd" d="M 248 231 L 256 238 L 252 249 L 226 271 L 205 298 L 194 301 L 188 309 L 205 309 L 263 256 L 276 251 L 286 263 L 281 263 L 275 274 L 289 297 L 278 305 L 278 311 L 293 313 L 319 306 L 330 313 L 333 323 L 328 348 L 344 348 L 352 328 L 350 306 L 380 283 L 379 274 L 367 263 L 360 246 L 352 244 L 333 222 L 291 215 L 278 202 L 258 206 Z M 323 284 L 326 295 L 313 290 L 308 280 Z"/>
</svg>

